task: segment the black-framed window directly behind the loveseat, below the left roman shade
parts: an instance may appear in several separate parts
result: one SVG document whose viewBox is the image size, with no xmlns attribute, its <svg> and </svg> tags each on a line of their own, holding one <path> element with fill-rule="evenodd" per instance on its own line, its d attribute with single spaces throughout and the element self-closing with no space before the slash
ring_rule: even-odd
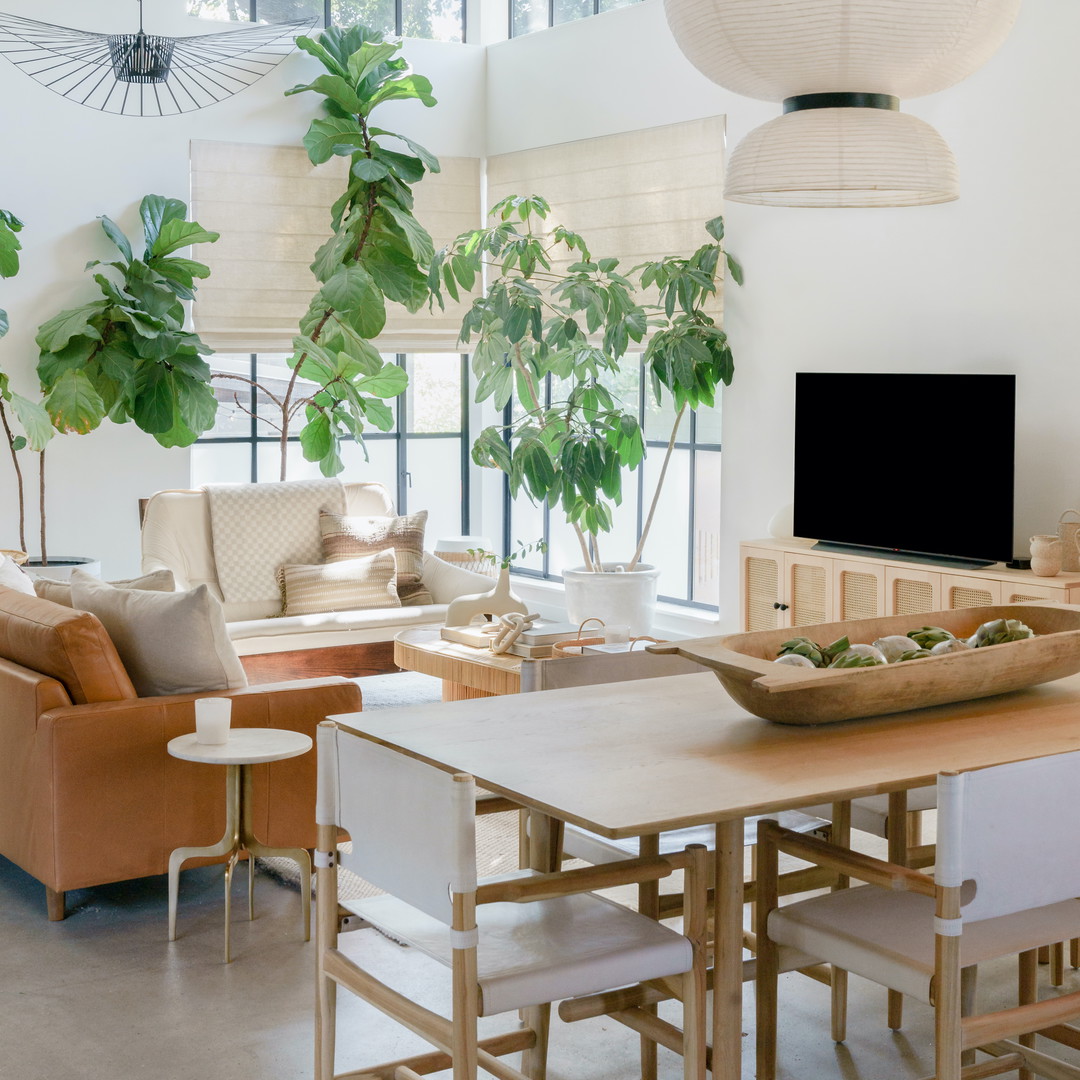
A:
<svg viewBox="0 0 1080 1080">
<path fill-rule="evenodd" d="M 394 410 L 394 428 L 388 432 L 369 430 L 363 447 L 347 443 L 341 453 L 346 464 L 342 478 L 384 484 L 399 513 L 427 510 L 428 537 L 432 541 L 441 536 L 468 534 L 465 361 L 430 353 L 397 356 L 396 362 L 404 365 L 409 384 L 401 397 L 389 403 Z M 288 383 L 292 372 L 287 357 L 217 353 L 214 370 L 226 377 L 214 381 L 217 421 L 192 448 L 192 483 L 198 486 L 278 480 L 281 440 L 271 427 L 279 419 L 272 397 L 280 399 Z M 303 393 L 303 388 L 298 391 Z M 288 440 L 287 475 L 289 480 L 320 475 L 318 463 L 303 459 L 299 428 Z"/>
</svg>

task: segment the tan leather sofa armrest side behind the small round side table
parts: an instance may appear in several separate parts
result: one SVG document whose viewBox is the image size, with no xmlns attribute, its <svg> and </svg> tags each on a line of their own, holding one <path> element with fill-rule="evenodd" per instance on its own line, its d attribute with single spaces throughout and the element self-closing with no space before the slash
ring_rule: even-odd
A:
<svg viewBox="0 0 1080 1080">
<path fill-rule="evenodd" d="M 345 678 L 305 679 L 215 693 L 232 700 L 238 728 L 286 728 L 314 738 L 329 715 L 361 707 Z M 16 859 L 52 889 L 163 874 L 168 853 L 216 842 L 225 827 L 225 770 L 170 756 L 171 739 L 194 730 L 204 694 L 135 698 L 51 708 L 38 719 L 35 756 L 44 791 L 38 837 Z M 17 797 L 17 796 L 15 796 Z M 256 835 L 273 847 L 315 842 L 315 754 L 253 767 Z"/>
</svg>

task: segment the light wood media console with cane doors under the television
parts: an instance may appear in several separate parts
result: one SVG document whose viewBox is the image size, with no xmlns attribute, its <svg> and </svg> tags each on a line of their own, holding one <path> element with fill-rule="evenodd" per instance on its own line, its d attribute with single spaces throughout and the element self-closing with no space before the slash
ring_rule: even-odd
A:
<svg viewBox="0 0 1080 1080">
<path fill-rule="evenodd" d="M 1037 578 L 1003 564 L 957 570 L 813 551 L 812 540 L 740 545 L 743 630 L 920 615 L 946 608 L 1058 600 L 1080 604 L 1080 573 Z"/>
</svg>

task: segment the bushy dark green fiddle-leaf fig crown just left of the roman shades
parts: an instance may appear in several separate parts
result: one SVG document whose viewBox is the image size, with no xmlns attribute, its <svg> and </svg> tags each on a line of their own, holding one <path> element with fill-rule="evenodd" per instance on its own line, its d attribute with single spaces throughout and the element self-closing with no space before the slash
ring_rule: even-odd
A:
<svg viewBox="0 0 1080 1080">
<path fill-rule="evenodd" d="M 108 217 L 99 218 L 120 257 L 94 260 L 100 297 L 38 329 L 38 377 L 56 430 L 84 434 L 108 417 L 133 420 L 162 446 L 188 446 L 214 423 L 211 350 L 184 329 L 184 300 L 210 270 L 174 253 L 213 243 L 218 233 L 187 220 L 179 199 L 147 195 L 139 205 L 145 249 Z"/>
</svg>

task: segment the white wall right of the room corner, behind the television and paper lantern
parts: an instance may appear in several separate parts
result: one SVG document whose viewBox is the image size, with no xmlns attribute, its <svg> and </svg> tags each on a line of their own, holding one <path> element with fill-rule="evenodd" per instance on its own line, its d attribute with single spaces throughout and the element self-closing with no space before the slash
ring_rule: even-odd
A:
<svg viewBox="0 0 1080 1080">
<path fill-rule="evenodd" d="M 737 618 L 737 544 L 766 535 L 792 496 L 797 370 L 1015 372 L 1016 550 L 1080 501 L 1080 8 L 1029 0 L 1001 51 L 967 81 L 901 103 L 951 145 L 961 198 L 903 210 L 724 208 L 746 271 L 729 288 L 735 378 L 724 396 L 721 619 Z M 714 85 L 681 56 L 660 0 L 488 51 L 490 152 L 724 112 L 730 145 L 780 106 Z M 509 87 L 514 87 L 511 96 Z M 947 417 L 928 468 L 994 468 L 993 433 L 950 446 Z M 836 483 L 888 483 L 890 447 L 851 455 Z M 880 457 L 879 457 L 880 455 Z M 880 478 L 879 478 L 880 475 Z M 971 507 L 977 515 L 978 507 Z"/>
</svg>

